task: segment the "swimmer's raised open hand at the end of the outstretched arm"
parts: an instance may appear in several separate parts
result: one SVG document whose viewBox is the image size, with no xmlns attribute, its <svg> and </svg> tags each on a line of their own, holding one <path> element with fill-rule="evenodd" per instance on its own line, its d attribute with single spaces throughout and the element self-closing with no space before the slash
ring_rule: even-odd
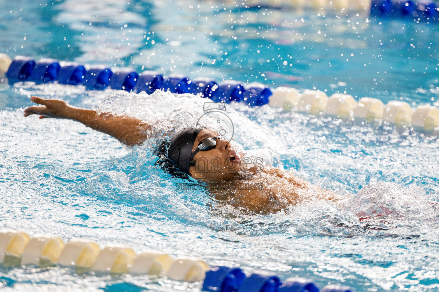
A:
<svg viewBox="0 0 439 292">
<path fill-rule="evenodd" d="M 71 119 L 69 113 L 71 113 L 72 106 L 70 106 L 67 102 L 63 100 L 41 99 L 37 96 L 32 96 L 30 100 L 41 106 L 28 107 L 27 109 L 25 109 L 24 116 L 40 115 L 40 119 Z"/>
</svg>

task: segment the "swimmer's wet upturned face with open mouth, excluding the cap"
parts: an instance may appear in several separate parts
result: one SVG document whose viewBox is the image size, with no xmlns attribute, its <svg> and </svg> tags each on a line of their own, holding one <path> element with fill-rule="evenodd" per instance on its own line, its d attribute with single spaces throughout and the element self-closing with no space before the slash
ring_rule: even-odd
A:
<svg viewBox="0 0 439 292">
<path fill-rule="evenodd" d="M 195 166 L 189 169 L 191 176 L 206 183 L 237 179 L 240 158 L 230 147 L 229 141 L 222 139 L 218 133 L 207 129 L 201 130 L 195 139 L 192 152 L 209 137 L 219 137 L 216 139 L 216 146 L 195 154 Z"/>
</svg>

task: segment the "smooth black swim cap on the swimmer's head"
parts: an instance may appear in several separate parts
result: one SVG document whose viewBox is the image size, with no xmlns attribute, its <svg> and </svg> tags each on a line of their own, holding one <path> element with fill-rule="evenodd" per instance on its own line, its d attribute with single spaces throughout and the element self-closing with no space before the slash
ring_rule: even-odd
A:
<svg viewBox="0 0 439 292">
<path fill-rule="evenodd" d="M 202 129 L 202 127 L 184 128 L 171 139 L 171 144 L 168 148 L 168 158 L 182 172 L 187 174 L 189 174 L 189 167 L 191 166 L 192 148 L 194 148 L 195 139 Z"/>
</svg>

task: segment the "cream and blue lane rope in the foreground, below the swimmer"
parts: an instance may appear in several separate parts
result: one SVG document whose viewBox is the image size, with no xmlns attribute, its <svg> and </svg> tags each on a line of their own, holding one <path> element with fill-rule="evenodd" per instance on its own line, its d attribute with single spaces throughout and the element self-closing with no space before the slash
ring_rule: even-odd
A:
<svg viewBox="0 0 439 292">
<path fill-rule="evenodd" d="M 36 267 L 74 267 L 77 273 L 97 271 L 105 274 L 145 274 L 167 276 L 186 282 L 202 281 L 209 292 L 353 292 L 341 285 L 326 285 L 322 290 L 306 278 L 286 281 L 269 271 L 246 275 L 240 267 L 209 266 L 196 257 L 173 259 L 167 253 L 144 251 L 136 253 L 130 246 L 108 245 L 87 239 L 71 239 L 68 243 L 58 236 L 29 236 L 26 232 L 0 230 L 0 264 L 4 267 L 32 265 Z"/>
</svg>

